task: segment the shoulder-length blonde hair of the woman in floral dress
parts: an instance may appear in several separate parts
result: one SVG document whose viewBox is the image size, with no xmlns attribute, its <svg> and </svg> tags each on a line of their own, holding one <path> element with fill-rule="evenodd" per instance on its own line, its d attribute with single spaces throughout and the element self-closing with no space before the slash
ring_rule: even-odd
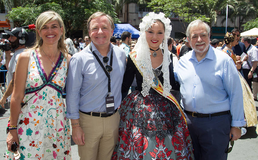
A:
<svg viewBox="0 0 258 160">
<path fill-rule="evenodd" d="M 42 46 L 43 40 L 40 39 L 40 35 L 38 34 L 38 30 L 40 32 L 45 24 L 50 23 L 52 21 L 58 21 L 59 26 L 63 27 L 63 34 L 61 35 L 62 38 L 60 38 L 58 40 L 57 48 L 58 48 L 58 50 L 60 50 L 62 52 L 64 57 L 67 57 L 68 56 L 68 50 L 67 50 L 67 48 L 64 44 L 65 33 L 66 33 L 65 32 L 65 27 L 64 27 L 64 22 L 63 22 L 61 16 L 54 11 L 45 11 L 45 12 L 42 12 L 38 16 L 38 18 L 36 20 L 36 42 L 35 42 L 34 46 L 31 48 L 31 50 L 33 50 L 33 49 L 36 50 L 37 48 L 40 48 Z"/>
</svg>

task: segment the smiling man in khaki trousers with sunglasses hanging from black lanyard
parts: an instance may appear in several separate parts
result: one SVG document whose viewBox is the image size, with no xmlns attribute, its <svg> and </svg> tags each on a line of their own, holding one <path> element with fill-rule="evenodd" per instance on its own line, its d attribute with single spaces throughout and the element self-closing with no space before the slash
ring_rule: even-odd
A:
<svg viewBox="0 0 258 160">
<path fill-rule="evenodd" d="M 66 116 L 83 160 L 111 159 L 118 141 L 126 56 L 110 43 L 114 27 L 109 15 L 93 13 L 87 22 L 92 41 L 69 63 Z"/>
</svg>

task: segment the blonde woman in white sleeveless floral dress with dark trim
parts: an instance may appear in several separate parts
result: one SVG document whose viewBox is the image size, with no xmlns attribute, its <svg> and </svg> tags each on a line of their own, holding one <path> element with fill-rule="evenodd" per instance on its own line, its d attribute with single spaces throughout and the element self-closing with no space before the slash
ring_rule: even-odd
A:
<svg viewBox="0 0 258 160">
<path fill-rule="evenodd" d="M 18 144 L 21 160 L 71 159 L 69 119 L 62 99 L 71 56 L 64 36 L 60 15 L 40 14 L 36 44 L 17 61 L 6 160 L 14 159 L 13 142 Z"/>
</svg>

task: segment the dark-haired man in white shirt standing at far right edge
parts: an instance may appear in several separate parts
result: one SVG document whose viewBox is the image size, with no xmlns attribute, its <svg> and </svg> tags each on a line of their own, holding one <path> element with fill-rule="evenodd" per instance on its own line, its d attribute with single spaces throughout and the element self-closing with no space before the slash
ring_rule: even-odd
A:
<svg viewBox="0 0 258 160">
<path fill-rule="evenodd" d="M 251 44 L 251 41 L 252 39 L 249 36 L 244 36 L 241 39 L 241 43 L 245 44 L 247 55 L 248 55 L 247 61 L 244 61 L 242 64 L 244 78 L 247 81 L 247 84 L 249 85 L 250 89 L 252 90 L 253 71 L 257 67 L 258 51 L 257 51 L 257 48 Z"/>
</svg>

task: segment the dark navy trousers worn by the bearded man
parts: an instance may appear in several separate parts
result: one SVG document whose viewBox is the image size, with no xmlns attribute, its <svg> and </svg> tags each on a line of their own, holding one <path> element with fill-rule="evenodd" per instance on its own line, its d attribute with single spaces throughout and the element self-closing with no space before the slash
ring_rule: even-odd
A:
<svg viewBox="0 0 258 160">
<path fill-rule="evenodd" d="M 226 160 L 231 115 L 192 117 L 185 114 L 196 160 Z"/>
</svg>

